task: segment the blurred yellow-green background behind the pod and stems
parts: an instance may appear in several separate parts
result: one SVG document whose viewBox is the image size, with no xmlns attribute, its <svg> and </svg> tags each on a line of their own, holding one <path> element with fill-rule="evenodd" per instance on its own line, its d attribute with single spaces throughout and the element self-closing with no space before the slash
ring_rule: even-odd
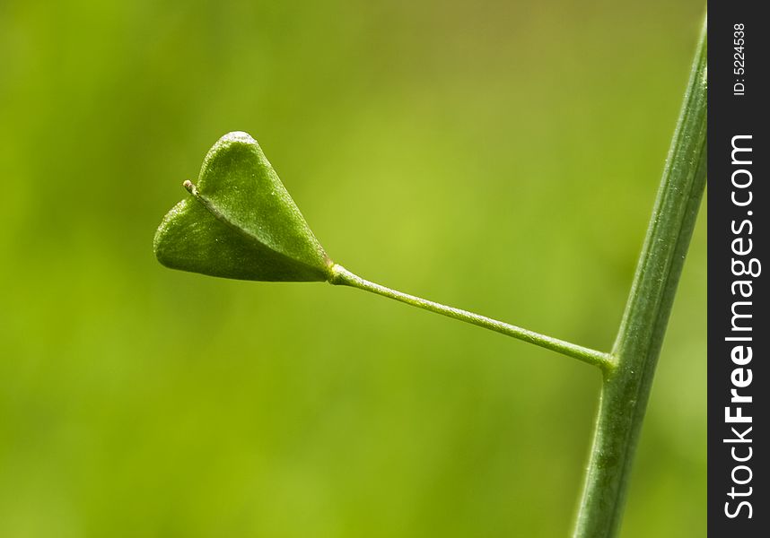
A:
<svg viewBox="0 0 770 538">
<path fill-rule="evenodd" d="M 0 3 L 0 536 L 564 536 L 599 375 L 159 265 L 221 135 L 366 278 L 608 349 L 694 0 Z M 705 534 L 701 214 L 623 535 Z"/>
</svg>

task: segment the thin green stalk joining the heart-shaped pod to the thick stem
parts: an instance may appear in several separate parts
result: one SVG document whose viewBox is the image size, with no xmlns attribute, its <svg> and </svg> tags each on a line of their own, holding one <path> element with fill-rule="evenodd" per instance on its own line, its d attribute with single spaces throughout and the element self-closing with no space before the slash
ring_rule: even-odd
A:
<svg viewBox="0 0 770 538">
<path fill-rule="evenodd" d="M 390 288 L 386 288 L 380 284 L 364 280 L 360 276 L 357 276 L 354 273 L 348 271 L 342 265 L 334 265 L 332 267 L 332 275 L 333 276 L 329 281 L 332 284 L 342 284 L 345 286 L 352 286 L 360 290 L 372 291 L 372 293 L 377 293 L 378 295 L 389 297 L 390 299 L 396 299 L 413 307 L 424 308 L 425 310 L 430 310 L 431 312 L 441 314 L 442 316 L 459 319 L 460 321 L 478 325 L 480 327 L 496 331 L 497 333 L 502 333 L 508 336 L 512 336 L 513 338 L 518 338 L 524 342 L 534 343 L 535 345 L 544 347 L 548 350 L 557 351 L 567 355 L 568 357 L 582 360 L 583 362 L 597 366 L 604 371 L 611 370 L 613 366 L 608 353 L 602 353 L 601 351 L 591 350 L 580 345 L 575 345 L 574 343 L 564 342 L 564 340 L 558 340 L 557 338 L 552 338 L 550 336 L 546 336 L 545 334 L 538 334 L 533 331 L 528 331 L 527 329 L 522 329 L 516 325 L 510 325 L 502 321 L 492 319 L 491 317 L 479 316 L 478 314 L 468 312 L 467 310 L 448 307 L 446 305 L 442 305 L 441 303 L 433 302 L 432 300 L 421 299 L 419 297 L 415 297 L 414 295 L 402 293 L 401 291 L 391 290 Z"/>
</svg>

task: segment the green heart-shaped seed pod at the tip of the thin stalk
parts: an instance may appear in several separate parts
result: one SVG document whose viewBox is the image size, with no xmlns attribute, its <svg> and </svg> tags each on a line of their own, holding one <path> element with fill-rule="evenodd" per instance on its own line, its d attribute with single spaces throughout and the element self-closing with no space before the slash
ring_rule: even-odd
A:
<svg viewBox="0 0 770 538">
<path fill-rule="evenodd" d="M 249 134 L 209 150 L 198 186 L 165 216 L 155 256 L 182 271 L 254 281 L 325 281 L 332 262 Z"/>
</svg>

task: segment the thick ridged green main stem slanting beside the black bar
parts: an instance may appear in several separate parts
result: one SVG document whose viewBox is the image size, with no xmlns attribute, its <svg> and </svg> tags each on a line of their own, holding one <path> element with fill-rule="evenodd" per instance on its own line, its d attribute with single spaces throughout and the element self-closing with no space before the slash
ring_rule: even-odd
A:
<svg viewBox="0 0 770 538">
<path fill-rule="evenodd" d="M 605 370 L 574 536 L 615 536 L 655 365 L 706 180 L 706 26 L 644 239 L 626 311 Z"/>
</svg>

